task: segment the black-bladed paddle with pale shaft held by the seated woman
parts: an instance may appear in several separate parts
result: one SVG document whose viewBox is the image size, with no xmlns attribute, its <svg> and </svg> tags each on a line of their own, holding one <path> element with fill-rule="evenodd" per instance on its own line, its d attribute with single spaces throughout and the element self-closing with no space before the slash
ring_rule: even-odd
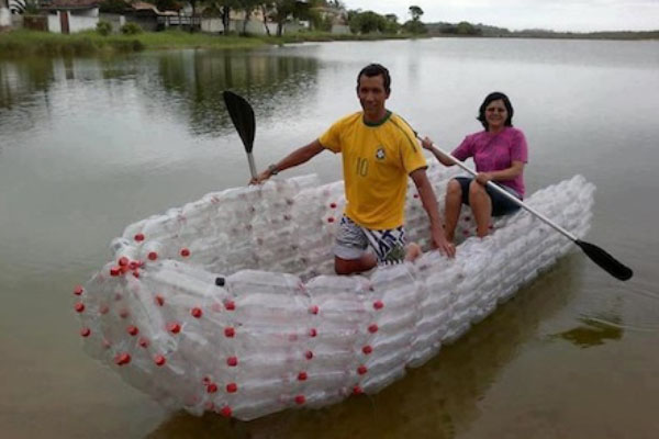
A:
<svg viewBox="0 0 659 439">
<path fill-rule="evenodd" d="M 418 134 L 416 134 L 416 137 L 420 140 L 422 139 L 421 136 L 418 136 Z M 434 144 L 433 144 L 433 147 L 437 148 Z M 477 173 L 473 170 L 466 167 L 461 161 L 456 159 L 454 156 L 446 154 L 440 148 L 437 148 L 437 149 L 439 150 L 439 153 L 442 153 L 443 155 L 448 157 L 454 164 L 456 164 L 457 166 L 459 166 L 460 168 L 462 168 L 463 170 L 466 170 L 473 177 L 477 176 Z M 492 181 L 488 181 L 488 185 L 490 188 L 492 188 L 493 190 L 495 190 L 496 192 L 499 192 L 500 194 L 507 198 L 509 200 L 513 201 L 517 205 L 520 205 L 520 207 L 526 210 L 530 214 L 535 215 L 537 218 L 544 221 L 546 224 L 554 227 L 557 232 L 559 232 L 562 235 L 570 238 L 574 244 L 577 244 L 579 246 L 579 248 L 581 248 L 583 250 L 585 256 L 588 256 L 593 262 L 595 262 L 597 266 L 600 266 L 602 269 L 604 269 L 608 274 L 613 275 L 616 279 L 619 279 L 621 281 L 629 280 L 629 279 L 632 279 L 632 275 L 634 275 L 634 272 L 632 271 L 632 269 L 629 267 L 624 266 L 622 262 L 619 262 L 613 256 L 608 255 L 602 248 L 595 246 L 594 244 L 590 244 L 590 243 L 587 243 L 587 241 L 583 241 L 583 240 L 577 238 L 577 236 L 574 236 L 570 232 L 566 230 L 558 224 L 555 224 L 554 222 L 551 222 L 551 219 L 547 218 L 545 215 L 537 212 L 535 209 L 524 204 L 524 202 L 522 202 L 522 200 L 512 195 L 507 191 L 501 189 L 499 185 L 494 184 Z"/>
</svg>

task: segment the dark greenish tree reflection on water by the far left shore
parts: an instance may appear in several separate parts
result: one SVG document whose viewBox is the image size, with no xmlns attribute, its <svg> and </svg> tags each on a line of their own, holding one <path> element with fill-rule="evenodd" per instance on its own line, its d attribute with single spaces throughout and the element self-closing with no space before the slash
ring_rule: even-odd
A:
<svg viewBox="0 0 659 439">
<path fill-rule="evenodd" d="M 317 69 L 316 58 L 272 56 L 268 50 L 0 61 L 0 130 L 27 131 L 33 121 L 49 119 L 54 90 L 67 94 L 67 87 L 92 85 L 111 91 L 118 82 L 126 82 L 136 87 L 149 105 L 174 112 L 178 121 L 187 119 L 192 134 L 219 135 L 231 126 L 222 91 L 244 94 L 261 116 L 270 116 L 283 102 L 304 100 L 314 87 Z M 121 111 L 121 102 L 108 111 Z"/>
</svg>

